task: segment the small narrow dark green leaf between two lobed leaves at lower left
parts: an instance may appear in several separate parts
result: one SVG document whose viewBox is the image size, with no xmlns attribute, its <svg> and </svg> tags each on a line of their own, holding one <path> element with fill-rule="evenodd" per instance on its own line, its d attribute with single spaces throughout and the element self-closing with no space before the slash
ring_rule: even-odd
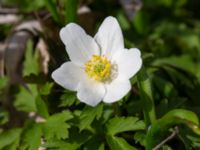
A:
<svg viewBox="0 0 200 150">
<path fill-rule="evenodd" d="M 41 115 L 44 118 L 49 117 L 47 105 L 45 104 L 44 100 L 40 96 L 36 97 L 36 107 L 37 107 L 37 113 L 39 115 Z"/>
</svg>

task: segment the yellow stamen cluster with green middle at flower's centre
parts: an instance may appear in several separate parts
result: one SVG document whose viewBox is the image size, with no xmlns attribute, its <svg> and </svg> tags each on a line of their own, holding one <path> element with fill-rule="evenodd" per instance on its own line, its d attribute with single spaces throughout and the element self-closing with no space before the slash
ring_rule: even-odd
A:
<svg viewBox="0 0 200 150">
<path fill-rule="evenodd" d="M 92 59 L 85 63 L 85 72 L 96 81 L 105 81 L 111 74 L 111 63 L 105 56 L 93 55 Z"/>
</svg>

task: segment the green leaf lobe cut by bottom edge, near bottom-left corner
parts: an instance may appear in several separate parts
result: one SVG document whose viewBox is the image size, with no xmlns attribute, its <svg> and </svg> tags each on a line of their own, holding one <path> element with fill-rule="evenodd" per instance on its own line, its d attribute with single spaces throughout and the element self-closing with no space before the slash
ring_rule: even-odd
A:
<svg viewBox="0 0 200 150">
<path fill-rule="evenodd" d="M 41 125 L 34 122 L 27 123 L 21 136 L 20 150 L 36 150 L 42 137 Z"/>
</svg>

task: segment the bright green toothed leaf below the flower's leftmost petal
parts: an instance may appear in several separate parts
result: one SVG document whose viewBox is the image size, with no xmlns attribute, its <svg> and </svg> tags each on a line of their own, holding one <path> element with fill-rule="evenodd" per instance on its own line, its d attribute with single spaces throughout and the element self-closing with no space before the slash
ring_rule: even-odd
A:
<svg viewBox="0 0 200 150">
<path fill-rule="evenodd" d="M 68 138 L 68 129 L 70 125 L 66 122 L 72 119 L 73 116 L 69 111 L 50 116 L 43 124 L 43 132 L 45 139 L 66 139 Z"/>
</svg>

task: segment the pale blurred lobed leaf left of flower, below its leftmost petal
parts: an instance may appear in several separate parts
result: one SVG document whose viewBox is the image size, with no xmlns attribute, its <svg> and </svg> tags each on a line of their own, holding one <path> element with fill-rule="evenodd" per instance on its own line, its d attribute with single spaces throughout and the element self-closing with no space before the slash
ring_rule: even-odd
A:
<svg viewBox="0 0 200 150">
<path fill-rule="evenodd" d="M 30 91 L 20 86 L 19 92 L 15 97 L 14 106 L 20 111 L 36 112 L 35 98 L 38 94 L 37 86 L 29 84 L 28 87 Z"/>
</svg>

